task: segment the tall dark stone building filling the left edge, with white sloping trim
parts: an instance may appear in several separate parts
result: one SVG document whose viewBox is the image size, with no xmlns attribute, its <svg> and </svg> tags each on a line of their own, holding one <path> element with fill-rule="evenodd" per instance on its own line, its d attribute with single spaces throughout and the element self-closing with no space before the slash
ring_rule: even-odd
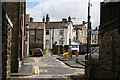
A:
<svg viewBox="0 0 120 80">
<path fill-rule="evenodd" d="M 24 52 L 25 2 L 2 2 L 2 79 L 18 72 Z M 20 10 L 20 11 L 19 11 Z"/>
</svg>

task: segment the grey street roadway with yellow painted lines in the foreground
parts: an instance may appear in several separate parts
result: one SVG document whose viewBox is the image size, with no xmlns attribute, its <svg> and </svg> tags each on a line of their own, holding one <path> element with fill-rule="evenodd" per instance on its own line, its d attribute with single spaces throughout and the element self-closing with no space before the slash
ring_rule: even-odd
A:
<svg viewBox="0 0 120 80">
<path fill-rule="evenodd" d="M 11 80 L 66 80 L 67 76 L 84 74 L 82 68 L 71 68 L 56 57 L 28 57 L 19 73 L 12 74 Z"/>
</svg>

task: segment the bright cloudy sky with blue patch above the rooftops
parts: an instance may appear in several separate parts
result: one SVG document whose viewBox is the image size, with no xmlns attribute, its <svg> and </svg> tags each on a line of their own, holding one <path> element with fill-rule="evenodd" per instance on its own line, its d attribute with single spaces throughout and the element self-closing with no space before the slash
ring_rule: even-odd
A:
<svg viewBox="0 0 120 80">
<path fill-rule="evenodd" d="M 100 23 L 100 2 L 104 0 L 91 0 L 90 15 L 92 28 Z M 27 14 L 35 22 L 41 22 L 42 17 L 49 14 L 50 21 L 61 21 L 71 16 L 73 24 L 87 22 L 88 0 L 34 0 L 27 2 Z"/>
</svg>

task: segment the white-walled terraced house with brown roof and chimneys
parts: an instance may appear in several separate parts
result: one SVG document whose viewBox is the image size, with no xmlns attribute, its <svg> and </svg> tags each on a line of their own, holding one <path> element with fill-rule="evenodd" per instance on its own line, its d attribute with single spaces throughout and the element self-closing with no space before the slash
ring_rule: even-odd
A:
<svg viewBox="0 0 120 80">
<path fill-rule="evenodd" d="M 45 24 L 45 48 L 53 49 L 53 45 L 68 48 L 73 41 L 73 23 L 71 17 L 63 18 L 62 21 L 50 22 L 50 18 L 46 16 Z"/>
</svg>

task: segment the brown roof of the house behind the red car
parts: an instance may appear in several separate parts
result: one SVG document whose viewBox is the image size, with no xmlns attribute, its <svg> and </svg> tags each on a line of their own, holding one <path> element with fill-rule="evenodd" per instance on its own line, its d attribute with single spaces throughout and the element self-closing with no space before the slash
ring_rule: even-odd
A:
<svg viewBox="0 0 120 80">
<path fill-rule="evenodd" d="M 44 29 L 45 23 L 43 22 L 30 22 L 29 29 Z"/>
</svg>

